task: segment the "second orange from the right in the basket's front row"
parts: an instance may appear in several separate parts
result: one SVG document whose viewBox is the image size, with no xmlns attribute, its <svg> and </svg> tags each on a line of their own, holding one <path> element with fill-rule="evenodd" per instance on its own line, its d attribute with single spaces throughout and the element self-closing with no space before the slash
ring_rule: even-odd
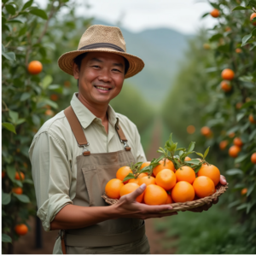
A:
<svg viewBox="0 0 256 256">
<path fill-rule="evenodd" d="M 193 201 L 194 198 L 195 190 L 188 182 L 178 182 L 172 189 L 172 200 L 175 202 Z"/>
</svg>

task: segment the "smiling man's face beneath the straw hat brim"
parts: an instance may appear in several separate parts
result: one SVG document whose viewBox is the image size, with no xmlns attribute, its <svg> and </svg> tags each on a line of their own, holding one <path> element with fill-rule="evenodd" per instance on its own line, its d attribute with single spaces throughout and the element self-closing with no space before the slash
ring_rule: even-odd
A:
<svg viewBox="0 0 256 256">
<path fill-rule="evenodd" d="M 89 52 L 81 67 L 73 64 L 73 76 L 79 79 L 79 94 L 90 105 L 108 104 L 119 95 L 125 79 L 125 60 L 120 55 Z"/>
</svg>

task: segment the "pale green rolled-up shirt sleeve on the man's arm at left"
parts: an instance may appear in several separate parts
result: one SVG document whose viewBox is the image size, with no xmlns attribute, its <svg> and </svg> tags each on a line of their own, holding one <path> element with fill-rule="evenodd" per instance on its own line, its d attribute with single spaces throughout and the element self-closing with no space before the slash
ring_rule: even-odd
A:
<svg viewBox="0 0 256 256">
<path fill-rule="evenodd" d="M 42 220 L 44 230 L 49 231 L 51 221 L 61 208 L 73 204 L 69 195 L 72 178 L 70 163 L 65 146 L 49 132 L 42 132 L 33 140 L 29 154 L 38 218 Z"/>
</svg>

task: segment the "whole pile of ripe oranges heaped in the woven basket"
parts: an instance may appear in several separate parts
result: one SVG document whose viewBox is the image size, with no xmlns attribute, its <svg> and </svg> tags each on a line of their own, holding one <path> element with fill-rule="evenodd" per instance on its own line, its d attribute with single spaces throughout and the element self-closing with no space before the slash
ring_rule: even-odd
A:
<svg viewBox="0 0 256 256">
<path fill-rule="evenodd" d="M 186 160 L 190 160 L 189 157 Z M 149 165 L 149 162 L 144 163 Z M 105 192 L 109 198 L 119 199 L 130 194 L 143 183 L 146 189 L 137 197 L 137 202 L 147 205 L 162 205 L 172 202 L 194 201 L 215 193 L 220 172 L 216 166 L 204 163 L 197 174 L 189 166 L 175 170 L 171 160 L 160 160 L 154 167 L 152 175 L 141 173 L 137 178 L 123 182 L 132 173 L 129 166 L 123 166 L 116 172 L 116 178 L 108 181 Z"/>
</svg>

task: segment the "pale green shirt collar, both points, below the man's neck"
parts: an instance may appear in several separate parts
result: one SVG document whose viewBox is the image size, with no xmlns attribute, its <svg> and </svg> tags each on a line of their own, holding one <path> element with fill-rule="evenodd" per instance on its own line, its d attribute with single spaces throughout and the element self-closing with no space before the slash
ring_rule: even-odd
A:
<svg viewBox="0 0 256 256">
<path fill-rule="evenodd" d="M 86 108 L 82 102 L 79 101 L 78 93 L 73 94 L 70 104 L 84 129 L 86 129 L 94 120 L 99 119 L 96 117 L 96 115 L 91 113 L 90 110 Z M 110 105 L 108 105 L 107 112 L 108 122 L 114 127 L 116 123 L 118 123 L 119 118 Z"/>
</svg>

